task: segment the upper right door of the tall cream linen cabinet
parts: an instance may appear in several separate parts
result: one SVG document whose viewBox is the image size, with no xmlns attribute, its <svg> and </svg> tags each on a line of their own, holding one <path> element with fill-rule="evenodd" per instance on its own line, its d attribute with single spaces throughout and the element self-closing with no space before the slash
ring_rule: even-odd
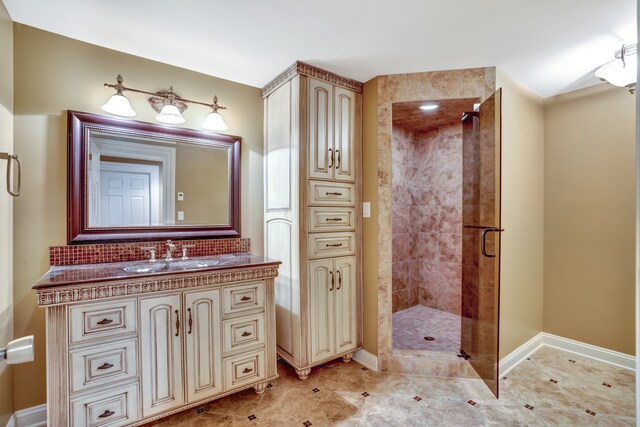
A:
<svg viewBox="0 0 640 427">
<path fill-rule="evenodd" d="M 356 94 L 336 87 L 334 98 L 334 179 L 354 182 L 356 139 Z"/>
</svg>

